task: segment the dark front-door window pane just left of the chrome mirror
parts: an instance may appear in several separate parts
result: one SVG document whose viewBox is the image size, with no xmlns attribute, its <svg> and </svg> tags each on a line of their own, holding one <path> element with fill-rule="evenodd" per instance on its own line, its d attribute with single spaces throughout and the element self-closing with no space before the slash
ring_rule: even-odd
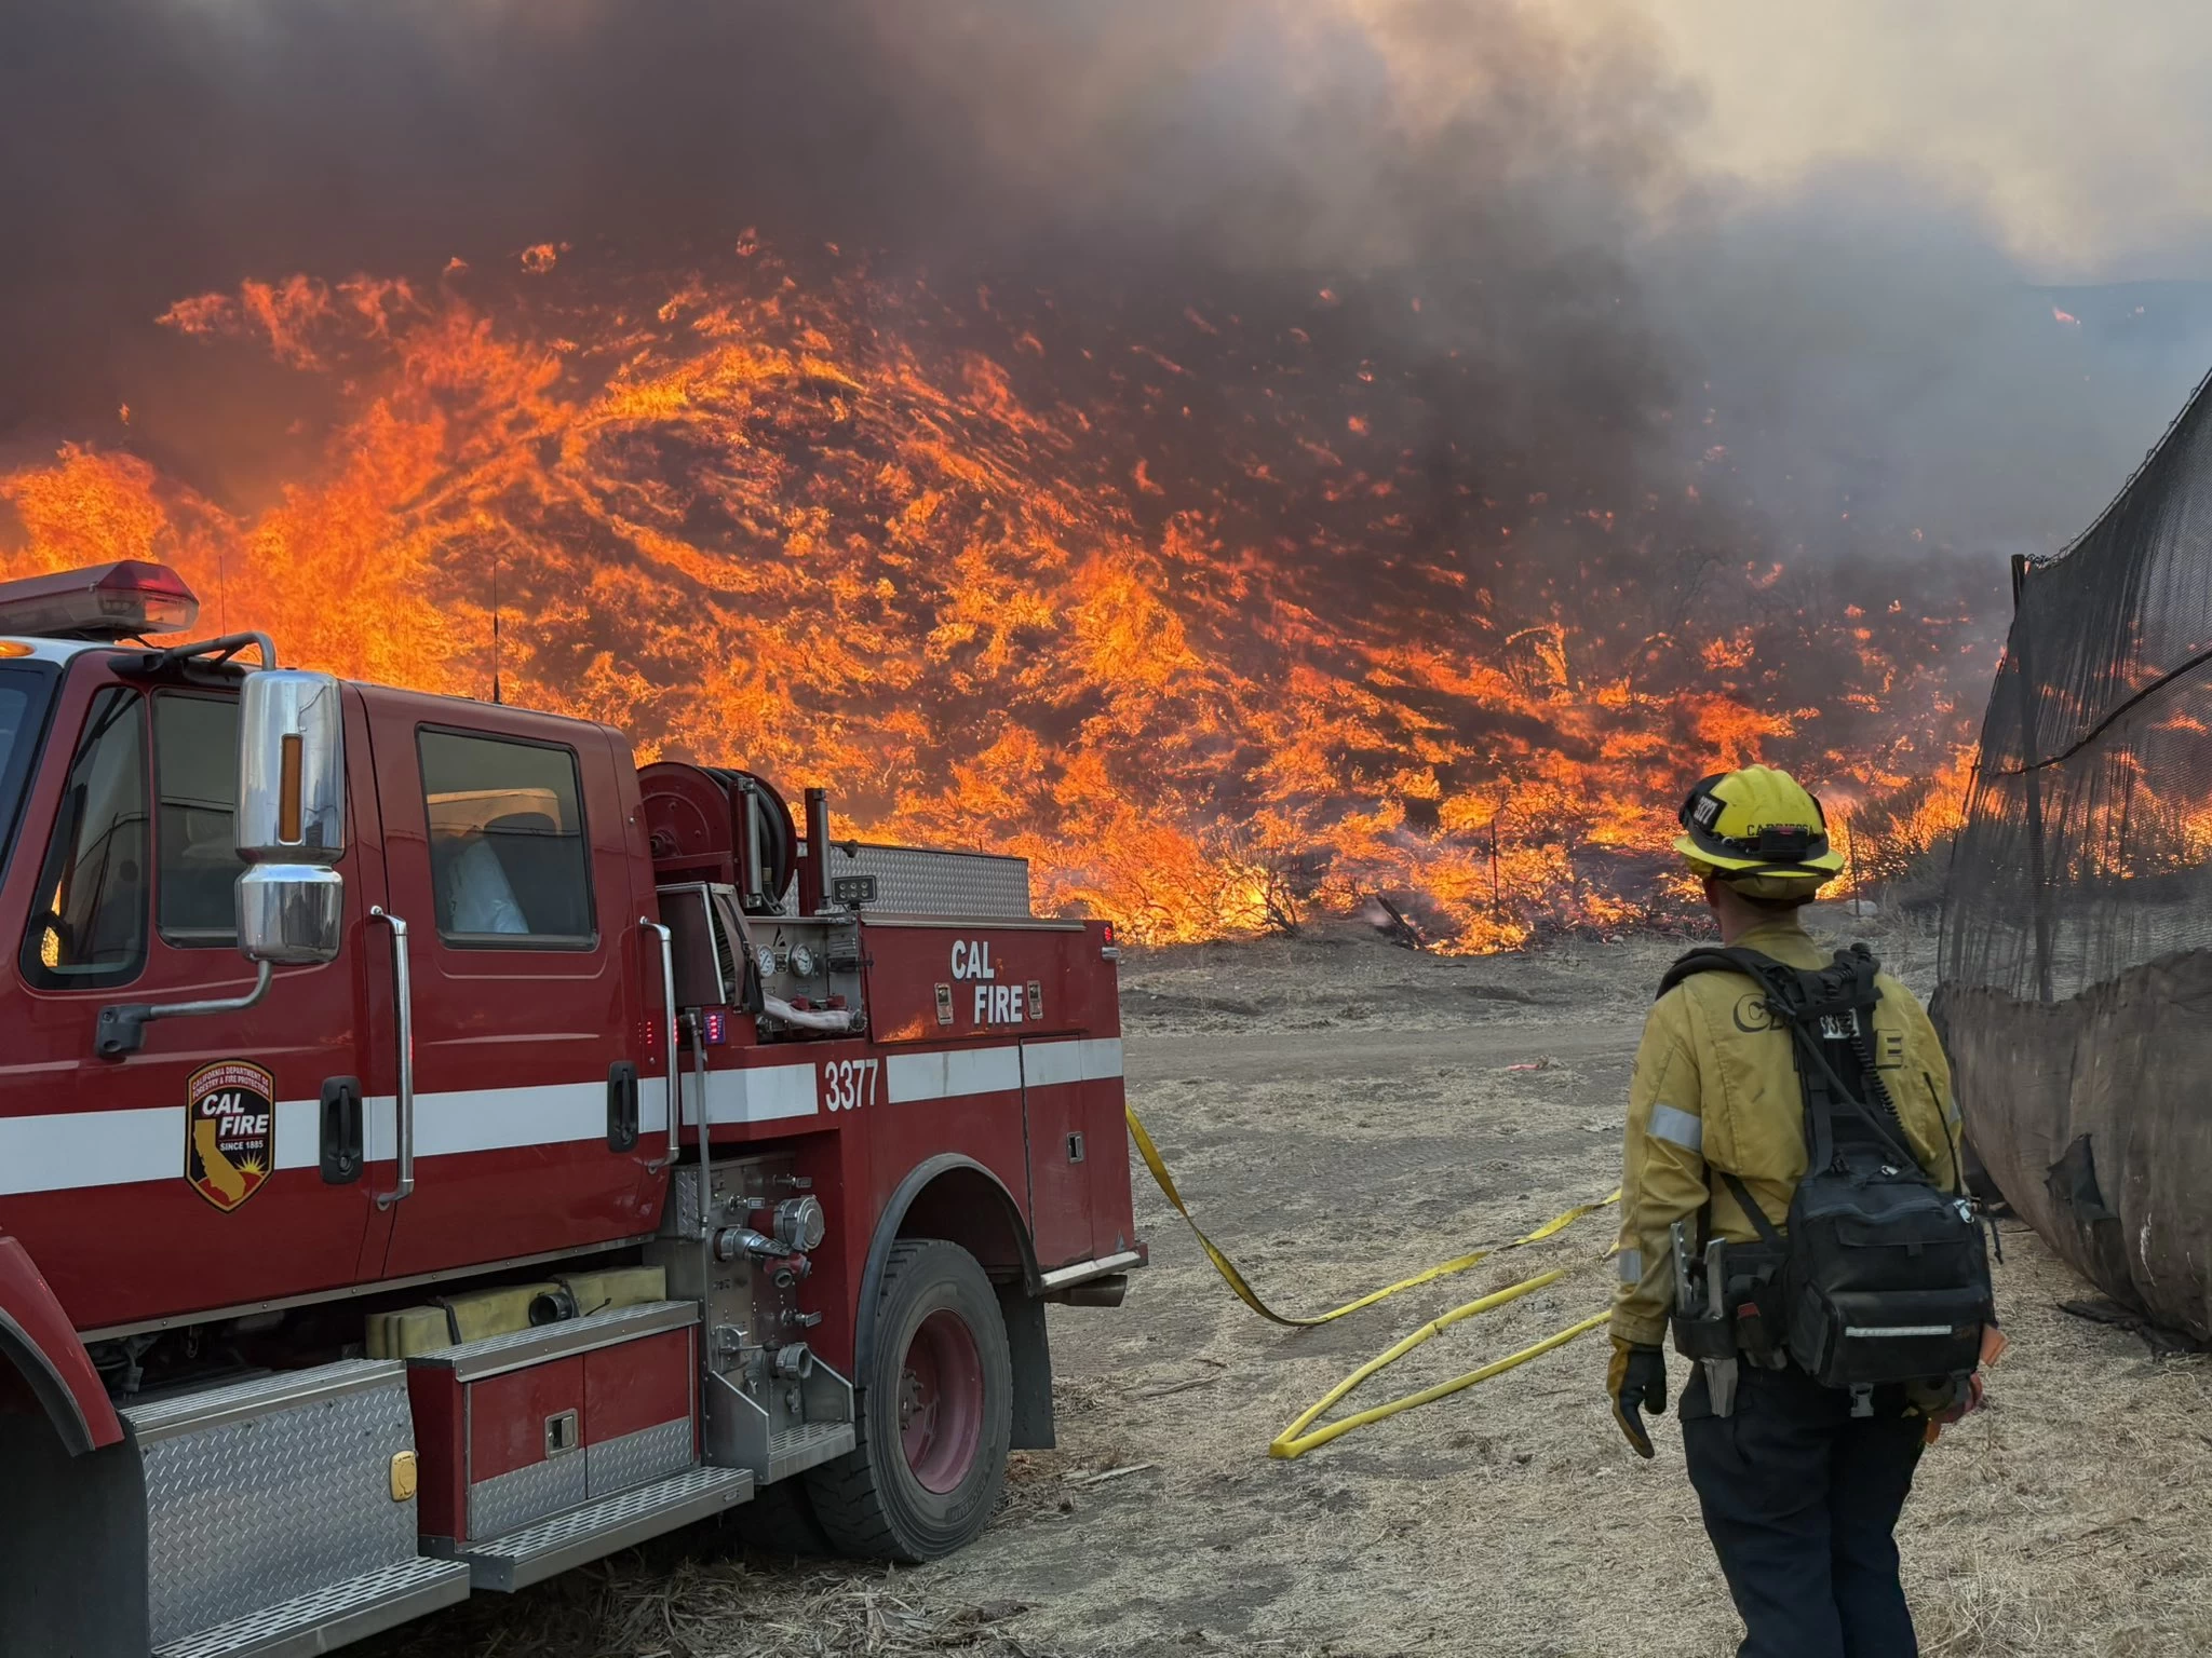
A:
<svg viewBox="0 0 2212 1658">
<path fill-rule="evenodd" d="M 155 924 L 170 944 L 234 944 L 239 862 L 239 705 L 228 696 L 153 699 Z"/>
</svg>

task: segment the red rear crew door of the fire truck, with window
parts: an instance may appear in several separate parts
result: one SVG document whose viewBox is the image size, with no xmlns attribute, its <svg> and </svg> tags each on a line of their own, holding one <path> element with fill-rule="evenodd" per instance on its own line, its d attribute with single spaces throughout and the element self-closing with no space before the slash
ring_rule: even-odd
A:
<svg viewBox="0 0 2212 1658">
<path fill-rule="evenodd" d="M 372 701 L 414 977 L 416 1187 L 385 1276 L 653 1231 L 664 1094 L 637 1072 L 659 1068 L 659 955 L 637 926 L 655 906 L 626 756 L 577 721 Z"/>
</svg>

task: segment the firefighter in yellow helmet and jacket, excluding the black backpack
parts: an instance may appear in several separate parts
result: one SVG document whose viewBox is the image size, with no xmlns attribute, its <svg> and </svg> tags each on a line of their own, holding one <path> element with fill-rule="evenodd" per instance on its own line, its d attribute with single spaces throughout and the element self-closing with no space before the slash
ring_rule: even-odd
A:
<svg viewBox="0 0 2212 1658">
<path fill-rule="evenodd" d="M 1681 809 L 1674 849 L 1703 880 L 1721 942 L 1801 968 L 1820 951 L 1798 909 L 1843 869 L 1820 802 L 1763 765 L 1705 778 Z M 1936 1030 L 1913 995 L 1882 975 L 1876 1063 L 1913 1156 L 1951 1189 L 1955 1105 Z M 1670 1227 L 1756 1245 L 1728 1189 L 1734 1174 L 1783 1227 L 1805 1174 L 1805 1094 L 1790 1032 L 1756 984 L 1697 973 L 1652 1006 L 1637 1048 L 1621 1174 L 1619 1291 L 1613 1302 L 1615 1419 L 1641 1457 L 1639 1413 L 1666 1408 L 1661 1337 L 1674 1302 Z M 1949 1399 L 1878 1388 L 1854 1402 L 1796 1364 L 1730 1364 L 1732 1406 L 1714 1408 L 1708 1366 L 1690 1366 L 1681 1437 L 1705 1532 L 1721 1556 L 1745 1640 L 1739 1658 L 1900 1658 L 1918 1651 L 1891 1536 L 1927 1415 Z M 1871 1404 L 1871 1415 L 1854 1415 Z"/>
</svg>

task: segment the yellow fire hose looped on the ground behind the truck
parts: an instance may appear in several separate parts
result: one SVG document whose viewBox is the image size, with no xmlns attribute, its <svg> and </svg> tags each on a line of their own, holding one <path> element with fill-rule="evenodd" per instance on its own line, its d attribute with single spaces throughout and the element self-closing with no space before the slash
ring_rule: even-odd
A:
<svg viewBox="0 0 2212 1658">
<path fill-rule="evenodd" d="M 1152 1178 L 1159 1183 L 1159 1189 L 1168 1198 L 1168 1203 L 1175 1205 L 1175 1211 L 1183 1216 L 1183 1225 L 1190 1227 L 1190 1236 L 1199 1240 L 1199 1249 L 1206 1251 L 1206 1258 L 1214 1262 L 1214 1271 L 1221 1273 L 1221 1282 L 1225 1282 L 1232 1291 L 1237 1291 L 1237 1300 L 1241 1300 L 1254 1313 L 1274 1324 L 1285 1324 L 1290 1329 L 1310 1329 L 1314 1324 L 1329 1324 L 1343 1318 L 1345 1313 L 1356 1313 L 1363 1307 L 1374 1307 L 1376 1302 L 1389 1300 L 1391 1295 L 1398 1295 L 1407 1289 L 1418 1289 L 1420 1284 L 1433 1284 L 1438 1278 L 1451 1278 L 1453 1273 L 1462 1273 L 1469 1267 L 1489 1260 L 1491 1256 L 1504 1253 L 1506 1249 L 1522 1249 L 1526 1245 L 1542 1242 L 1544 1238 L 1566 1231 L 1586 1214 L 1595 1214 L 1597 1209 L 1619 1203 L 1621 1198 L 1619 1187 L 1615 1187 L 1610 1196 L 1597 1198 L 1595 1203 L 1577 1203 L 1573 1209 L 1553 1216 L 1542 1227 L 1522 1234 L 1520 1238 L 1500 1245 L 1489 1245 L 1484 1249 L 1473 1249 L 1464 1256 L 1453 1256 L 1451 1260 L 1442 1260 L 1436 1267 L 1429 1267 L 1427 1271 L 1413 1273 L 1411 1278 L 1400 1278 L 1396 1284 L 1385 1284 L 1383 1289 L 1369 1291 L 1354 1302 L 1345 1302 L 1343 1307 L 1332 1307 L 1327 1313 L 1316 1313 L 1312 1318 L 1292 1318 L 1287 1313 L 1279 1313 L 1272 1307 L 1267 1307 L 1267 1302 L 1259 1298 L 1259 1291 L 1254 1291 L 1252 1284 L 1245 1280 L 1245 1276 L 1237 1269 L 1237 1262 L 1223 1256 L 1219 1249 L 1214 1249 L 1214 1240 L 1199 1229 L 1199 1222 L 1192 1218 L 1190 1207 L 1183 1203 L 1183 1194 L 1175 1189 L 1175 1176 L 1168 1174 L 1168 1165 L 1159 1156 L 1159 1147 L 1152 1145 L 1152 1136 L 1137 1119 L 1137 1112 L 1126 1110 L 1126 1116 L 1128 1116 L 1128 1134 L 1137 1143 L 1137 1156 L 1144 1158 L 1144 1165 L 1152 1172 Z M 1613 1251 L 1606 1249 L 1606 1256 L 1610 1253 Z M 1604 1260 L 1606 1256 L 1597 1256 L 1577 1267 L 1555 1267 L 1551 1271 L 1537 1273 L 1535 1278 L 1524 1278 L 1517 1284 L 1509 1284 L 1506 1289 L 1498 1289 L 1491 1291 L 1489 1295 L 1462 1302 L 1460 1307 L 1453 1307 L 1449 1313 L 1442 1313 L 1440 1318 L 1431 1318 L 1427 1324 L 1407 1335 L 1402 1342 L 1367 1360 L 1360 1368 L 1356 1368 L 1352 1375 L 1347 1375 L 1343 1382 L 1338 1382 L 1334 1388 L 1321 1395 L 1321 1399 L 1316 1399 L 1312 1408 L 1301 1413 L 1296 1421 L 1292 1421 L 1287 1428 L 1283 1428 L 1283 1433 L 1274 1437 L 1274 1444 L 1267 1446 L 1267 1455 L 1285 1459 L 1303 1457 L 1314 1446 L 1325 1446 L 1332 1439 L 1340 1439 L 1354 1428 L 1365 1428 L 1369 1421 L 1383 1421 L 1385 1417 L 1396 1417 L 1400 1410 L 1413 1410 L 1416 1406 L 1433 1404 L 1436 1399 L 1447 1399 L 1453 1393 L 1475 1386 L 1478 1382 L 1489 1382 L 1493 1375 L 1504 1375 L 1506 1371 L 1526 1364 L 1540 1353 L 1551 1353 L 1555 1346 L 1566 1346 L 1577 1335 L 1588 1335 L 1599 1324 L 1604 1324 L 1610 1313 L 1597 1313 L 1593 1318 L 1582 1320 L 1579 1324 L 1568 1324 L 1564 1331 L 1553 1331 L 1542 1342 L 1533 1342 L 1531 1346 L 1524 1346 L 1520 1353 L 1493 1360 L 1491 1364 L 1473 1368 L 1467 1375 L 1455 1375 L 1449 1382 L 1438 1382 L 1436 1386 L 1420 1388 L 1418 1393 L 1405 1393 L 1396 1399 L 1369 1406 L 1367 1410 L 1356 1410 L 1349 1417 L 1340 1417 L 1327 1424 L 1325 1428 L 1314 1428 L 1314 1433 L 1307 1433 L 1307 1428 L 1314 1426 L 1314 1421 L 1321 1417 L 1323 1410 L 1338 1404 L 1345 1395 L 1349 1395 L 1371 1375 L 1389 1368 L 1422 1342 L 1442 1335 L 1453 1324 L 1475 1318 L 1478 1313 L 1486 1313 L 1493 1307 L 1504 1307 L 1506 1302 L 1515 1302 L 1522 1295 L 1528 1295 L 1537 1289 L 1557 1284 L 1562 1278 L 1571 1278 L 1584 1271 L 1586 1267 L 1595 1265 L 1597 1260 Z"/>
</svg>

